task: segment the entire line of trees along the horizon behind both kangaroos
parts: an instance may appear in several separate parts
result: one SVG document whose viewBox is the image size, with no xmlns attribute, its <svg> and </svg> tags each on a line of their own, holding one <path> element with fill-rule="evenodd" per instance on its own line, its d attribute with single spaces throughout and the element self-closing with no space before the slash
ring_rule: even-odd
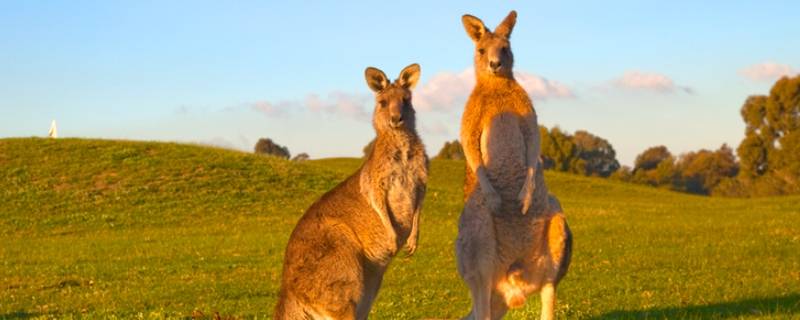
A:
<svg viewBox="0 0 800 320">
<path fill-rule="evenodd" d="M 768 95 L 754 95 L 741 108 L 745 137 L 734 151 L 723 144 L 680 155 L 663 145 L 644 150 L 633 168 L 621 166 L 611 143 L 585 130 L 539 128 L 547 170 L 646 184 L 675 191 L 730 197 L 800 193 L 800 75 L 778 80 Z M 368 154 L 371 144 L 364 147 Z M 288 149 L 269 139 L 257 153 L 288 158 Z M 444 144 L 434 159 L 463 160 L 458 140 Z"/>
</svg>

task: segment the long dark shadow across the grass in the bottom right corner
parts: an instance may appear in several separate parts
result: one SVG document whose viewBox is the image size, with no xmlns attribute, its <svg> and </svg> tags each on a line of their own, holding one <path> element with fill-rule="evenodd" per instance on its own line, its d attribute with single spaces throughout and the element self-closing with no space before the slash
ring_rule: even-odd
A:
<svg viewBox="0 0 800 320">
<path fill-rule="evenodd" d="M 684 307 L 614 310 L 592 319 L 726 319 L 758 315 L 800 316 L 800 294 Z"/>
</svg>

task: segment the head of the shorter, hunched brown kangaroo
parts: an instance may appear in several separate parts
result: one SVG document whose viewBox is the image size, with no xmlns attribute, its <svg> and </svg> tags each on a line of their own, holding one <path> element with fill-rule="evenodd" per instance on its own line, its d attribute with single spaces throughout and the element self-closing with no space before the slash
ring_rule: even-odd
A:
<svg viewBox="0 0 800 320">
<path fill-rule="evenodd" d="M 367 86 L 375 92 L 375 112 L 372 125 L 378 132 L 414 130 L 414 107 L 411 89 L 419 80 L 419 65 L 414 63 L 400 72 L 400 77 L 389 82 L 383 71 L 369 67 L 364 72 Z"/>
</svg>

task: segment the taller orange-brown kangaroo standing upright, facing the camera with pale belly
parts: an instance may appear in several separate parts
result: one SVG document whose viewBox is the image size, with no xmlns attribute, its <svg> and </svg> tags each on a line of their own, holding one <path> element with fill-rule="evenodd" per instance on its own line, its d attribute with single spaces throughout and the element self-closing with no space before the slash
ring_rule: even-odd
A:
<svg viewBox="0 0 800 320">
<path fill-rule="evenodd" d="M 472 297 L 465 319 L 500 319 L 537 291 L 541 319 L 552 319 L 571 259 L 572 234 L 544 183 L 536 112 L 514 80 L 516 19 L 511 11 L 491 32 L 480 19 L 462 17 L 475 43 L 477 80 L 461 120 L 466 177 L 456 256 Z"/>
</svg>

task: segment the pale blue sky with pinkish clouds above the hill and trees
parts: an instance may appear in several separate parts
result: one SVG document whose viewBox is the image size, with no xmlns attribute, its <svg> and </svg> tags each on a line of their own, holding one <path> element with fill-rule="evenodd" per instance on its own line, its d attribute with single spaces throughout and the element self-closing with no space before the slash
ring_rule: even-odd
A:
<svg viewBox="0 0 800 320">
<path fill-rule="evenodd" d="M 312 158 L 372 137 L 367 66 L 422 66 L 420 133 L 457 137 L 472 43 L 515 9 L 515 69 L 539 121 L 608 139 L 624 164 L 738 145 L 739 108 L 800 71 L 800 2 L 0 2 L 0 137 L 206 143 L 271 137 Z"/>
</svg>

